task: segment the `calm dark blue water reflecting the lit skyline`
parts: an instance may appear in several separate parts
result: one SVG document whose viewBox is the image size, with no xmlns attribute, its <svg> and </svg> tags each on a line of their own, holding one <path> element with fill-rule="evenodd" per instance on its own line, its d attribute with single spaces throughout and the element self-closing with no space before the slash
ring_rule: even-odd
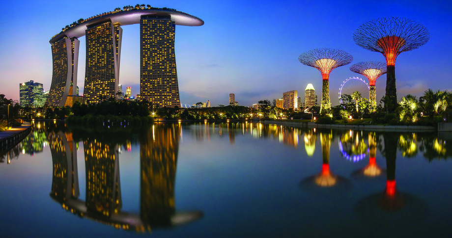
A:
<svg viewBox="0 0 452 238">
<path fill-rule="evenodd" d="M 35 122 L 0 155 L 1 237 L 450 237 L 452 136 Z"/>
</svg>

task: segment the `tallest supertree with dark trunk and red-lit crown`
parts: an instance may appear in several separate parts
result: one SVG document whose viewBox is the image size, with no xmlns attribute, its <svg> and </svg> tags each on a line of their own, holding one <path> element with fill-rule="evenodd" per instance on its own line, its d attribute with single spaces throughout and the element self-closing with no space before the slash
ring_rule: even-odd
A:
<svg viewBox="0 0 452 238">
<path fill-rule="evenodd" d="M 366 50 L 380 52 L 386 58 L 385 108 L 394 112 L 397 106 L 395 89 L 395 59 L 405 51 L 423 46 L 430 38 L 427 28 L 406 18 L 379 18 L 369 21 L 355 30 L 353 40 Z"/>
</svg>

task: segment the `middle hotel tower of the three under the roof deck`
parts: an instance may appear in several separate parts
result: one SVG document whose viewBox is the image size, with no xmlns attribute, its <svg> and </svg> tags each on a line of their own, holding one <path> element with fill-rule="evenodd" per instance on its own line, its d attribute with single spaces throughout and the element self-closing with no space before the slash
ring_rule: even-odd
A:
<svg viewBox="0 0 452 238">
<path fill-rule="evenodd" d="M 122 28 L 112 21 L 86 29 L 86 71 L 84 100 L 99 103 L 117 98 Z"/>
</svg>

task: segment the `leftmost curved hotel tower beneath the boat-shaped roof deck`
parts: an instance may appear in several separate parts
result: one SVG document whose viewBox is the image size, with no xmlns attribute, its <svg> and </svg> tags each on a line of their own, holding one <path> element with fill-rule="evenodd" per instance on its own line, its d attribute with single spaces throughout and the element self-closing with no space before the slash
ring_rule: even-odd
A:
<svg viewBox="0 0 452 238">
<path fill-rule="evenodd" d="M 64 106 L 68 95 L 74 95 L 73 85 L 77 85 L 77 68 L 80 41 L 63 37 L 52 43 L 52 84 L 45 106 Z"/>
</svg>

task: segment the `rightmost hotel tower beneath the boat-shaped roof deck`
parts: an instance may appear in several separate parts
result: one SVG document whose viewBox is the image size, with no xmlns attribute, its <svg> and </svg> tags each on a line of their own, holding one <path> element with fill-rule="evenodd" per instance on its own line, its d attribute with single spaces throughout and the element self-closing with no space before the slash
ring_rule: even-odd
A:
<svg viewBox="0 0 452 238">
<path fill-rule="evenodd" d="M 159 106 L 180 106 L 174 34 L 175 24 L 170 16 L 141 16 L 140 100 Z"/>
</svg>

